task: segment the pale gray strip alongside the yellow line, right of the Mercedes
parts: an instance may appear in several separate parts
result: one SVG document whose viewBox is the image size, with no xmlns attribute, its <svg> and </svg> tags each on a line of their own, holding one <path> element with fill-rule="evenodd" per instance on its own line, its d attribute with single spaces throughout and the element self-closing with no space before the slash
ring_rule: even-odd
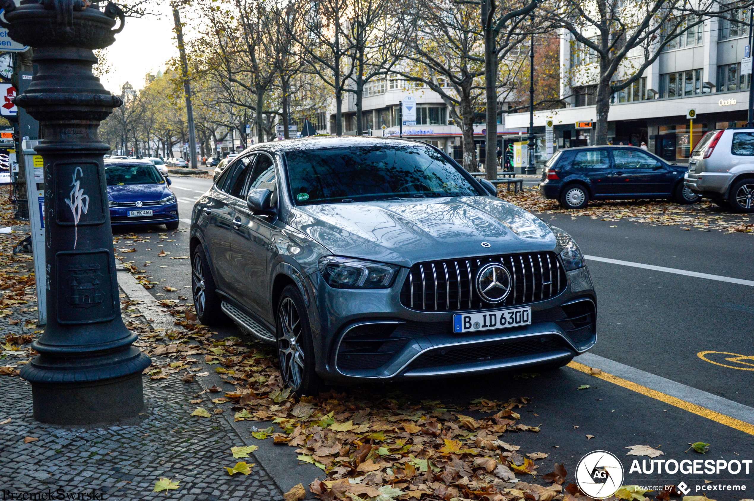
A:
<svg viewBox="0 0 754 501">
<path fill-rule="evenodd" d="M 703 408 L 710 409 L 710 411 L 719 412 L 720 414 L 733 417 L 744 423 L 754 424 L 754 408 L 750 408 L 749 406 L 738 402 L 733 402 L 732 400 L 724 399 L 722 396 L 717 396 L 713 393 L 707 393 L 702 389 L 677 383 L 676 381 L 657 376 L 656 374 L 651 374 L 651 372 L 645 372 L 635 367 L 631 367 L 630 365 L 615 362 L 615 360 L 605 359 L 594 353 L 584 353 L 577 356 L 574 360 L 575 362 L 579 362 L 589 367 L 600 368 L 608 374 L 622 377 L 632 383 L 640 384 L 660 393 L 674 396 L 676 399 L 700 405 Z"/>
</svg>

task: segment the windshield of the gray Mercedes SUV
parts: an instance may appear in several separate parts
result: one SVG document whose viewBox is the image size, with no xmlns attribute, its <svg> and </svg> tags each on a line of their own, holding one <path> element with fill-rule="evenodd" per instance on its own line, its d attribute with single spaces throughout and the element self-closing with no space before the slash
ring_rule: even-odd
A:
<svg viewBox="0 0 754 501">
<path fill-rule="evenodd" d="M 439 151 L 418 145 L 292 150 L 286 161 L 297 205 L 479 194 Z"/>
</svg>

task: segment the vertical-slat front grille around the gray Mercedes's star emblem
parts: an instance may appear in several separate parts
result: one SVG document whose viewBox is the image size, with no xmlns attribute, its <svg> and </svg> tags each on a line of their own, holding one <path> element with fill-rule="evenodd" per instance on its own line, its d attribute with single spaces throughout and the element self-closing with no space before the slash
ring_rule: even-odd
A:
<svg viewBox="0 0 754 501">
<path fill-rule="evenodd" d="M 492 304 L 477 294 L 477 271 L 501 263 L 512 284 L 504 301 Z M 492 255 L 481 258 L 414 264 L 400 291 L 400 302 L 412 310 L 480 310 L 553 298 L 566 289 L 566 271 L 554 252 Z"/>
</svg>

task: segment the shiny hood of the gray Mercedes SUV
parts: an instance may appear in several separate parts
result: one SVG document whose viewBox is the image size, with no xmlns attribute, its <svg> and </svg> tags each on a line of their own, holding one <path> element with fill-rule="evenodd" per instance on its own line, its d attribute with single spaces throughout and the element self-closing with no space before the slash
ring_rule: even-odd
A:
<svg viewBox="0 0 754 501">
<path fill-rule="evenodd" d="M 288 223 L 333 254 L 406 267 L 556 247 L 556 237 L 543 221 L 492 197 L 299 206 L 291 210 Z"/>
</svg>

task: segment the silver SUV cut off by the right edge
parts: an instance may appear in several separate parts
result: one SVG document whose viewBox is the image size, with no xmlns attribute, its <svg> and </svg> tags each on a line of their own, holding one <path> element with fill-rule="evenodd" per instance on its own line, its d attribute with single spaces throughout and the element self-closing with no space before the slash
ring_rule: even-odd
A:
<svg viewBox="0 0 754 501">
<path fill-rule="evenodd" d="M 683 185 L 721 207 L 754 212 L 754 128 L 706 133 L 691 151 Z"/>
</svg>

